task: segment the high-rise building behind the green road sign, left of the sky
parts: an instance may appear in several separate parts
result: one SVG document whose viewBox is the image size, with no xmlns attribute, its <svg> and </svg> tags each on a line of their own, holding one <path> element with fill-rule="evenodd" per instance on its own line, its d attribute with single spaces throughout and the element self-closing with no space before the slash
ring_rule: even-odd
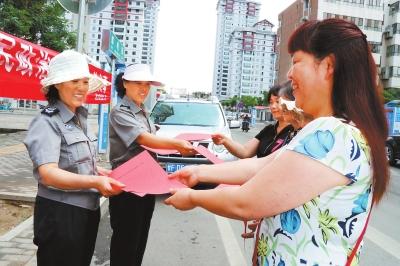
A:
<svg viewBox="0 0 400 266">
<path fill-rule="evenodd" d="M 160 0 L 114 0 L 103 11 L 86 17 L 84 53 L 100 66 L 107 65 L 101 51 L 103 29 L 112 30 L 124 45 L 126 65 L 154 64 L 157 15 Z M 69 14 L 72 27 L 77 25 L 77 15 Z"/>
</svg>

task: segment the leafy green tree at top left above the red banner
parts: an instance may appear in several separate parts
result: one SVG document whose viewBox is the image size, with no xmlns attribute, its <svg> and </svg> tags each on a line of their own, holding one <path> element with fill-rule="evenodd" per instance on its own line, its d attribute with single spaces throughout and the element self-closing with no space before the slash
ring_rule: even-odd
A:
<svg viewBox="0 0 400 266">
<path fill-rule="evenodd" d="M 75 47 L 77 38 L 68 30 L 64 13 L 56 1 L 4 0 L 0 30 L 60 52 Z"/>
</svg>

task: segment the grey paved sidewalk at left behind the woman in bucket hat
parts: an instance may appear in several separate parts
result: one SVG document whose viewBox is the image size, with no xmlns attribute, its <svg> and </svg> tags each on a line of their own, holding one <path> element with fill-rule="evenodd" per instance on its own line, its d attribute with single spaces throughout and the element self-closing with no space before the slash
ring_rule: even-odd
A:
<svg viewBox="0 0 400 266">
<path fill-rule="evenodd" d="M 0 121 L 6 119 L 3 115 L 0 116 Z M 12 116 L 15 118 L 10 119 Z M 27 129 L 32 118 L 31 115 L 10 115 L 7 121 L 2 121 L 4 123 L 1 123 L 1 127 Z M 22 128 L 20 125 L 23 125 Z M 22 143 L 25 136 L 26 131 L 0 134 L 0 199 L 29 202 L 35 200 L 37 182 L 32 176 L 32 162 Z M 104 214 L 104 210 L 108 208 L 108 200 L 102 198 L 100 204 L 101 213 Z M 0 266 L 36 265 L 37 247 L 32 239 L 31 216 L 0 236 Z"/>
</svg>

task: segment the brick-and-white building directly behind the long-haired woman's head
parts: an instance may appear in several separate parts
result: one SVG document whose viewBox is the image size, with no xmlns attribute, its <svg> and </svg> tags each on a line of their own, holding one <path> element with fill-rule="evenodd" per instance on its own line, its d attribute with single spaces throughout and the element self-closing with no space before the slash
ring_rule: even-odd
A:
<svg viewBox="0 0 400 266">
<path fill-rule="evenodd" d="M 277 82 L 286 81 L 291 66 L 287 43 L 294 29 L 305 20 L 341 18 L 355 23 L 366 35 L 377 67 L 381 65 L 383 1 L 297 0 L 279 14 L 277 32 Z"/>
</svg>

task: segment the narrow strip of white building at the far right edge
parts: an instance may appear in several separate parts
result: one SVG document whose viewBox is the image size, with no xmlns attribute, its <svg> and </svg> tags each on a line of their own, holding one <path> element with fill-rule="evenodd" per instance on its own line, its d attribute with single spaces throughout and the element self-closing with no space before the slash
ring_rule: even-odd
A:
<svg viewBox="0 0 400 266">
<path fill-rule="evenodd" d="M 400 1 L 385 2 L 381 79 L 384 88 L 400 87 Z"/>
</svg>

